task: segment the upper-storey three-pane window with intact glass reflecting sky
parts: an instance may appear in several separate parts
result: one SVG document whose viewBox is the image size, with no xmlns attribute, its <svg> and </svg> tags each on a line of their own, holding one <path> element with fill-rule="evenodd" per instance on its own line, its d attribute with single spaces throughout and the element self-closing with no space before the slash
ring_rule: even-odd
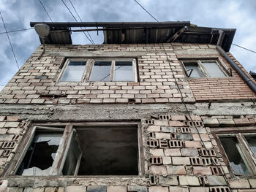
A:
<svg viewBox="0 0 256 192">
<path fill-rule="evenodd" d="M 135 59 L 69 58 L 59 76 L 60 82 L 137 82 Z"/>
</svg>

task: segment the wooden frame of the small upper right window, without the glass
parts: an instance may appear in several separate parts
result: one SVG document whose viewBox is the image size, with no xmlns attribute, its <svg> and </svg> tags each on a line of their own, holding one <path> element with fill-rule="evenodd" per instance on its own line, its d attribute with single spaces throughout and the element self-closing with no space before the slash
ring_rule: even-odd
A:
<svg viewBox="0 0 256 192">
<path fill-rule="evenodd" d="M 211 77 L 210 74 L 207 72 L 206 68 L 203 66 L 204 62 L 214 62 L 217 64 L 220 70 L 222 70 L 223 74 L 225 74 L 225 77 Z M 196 64 L 198 67 L 198 70 L 202 74 L 203 77 L 189 77 L 189 73 L 187 72 L 186 69 L 186 64 Z M 225 65 L 222 63 L 222 61 L 219 60 L 219 58 L 184 58 L 181 59 L 181 65 L 184 69 L 184 73 L 188 78 L 226 78 L 226 77 L 231 77 L 232 74 L 230 72 L 227 72 L 227 69 Z"/>
</svg>

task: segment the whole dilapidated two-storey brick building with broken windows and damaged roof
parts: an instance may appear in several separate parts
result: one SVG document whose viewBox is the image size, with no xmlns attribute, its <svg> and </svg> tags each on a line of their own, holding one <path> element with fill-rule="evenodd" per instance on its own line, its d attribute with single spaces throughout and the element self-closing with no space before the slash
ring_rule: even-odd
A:
<svg viewBox="0 0 256 192">
<path fill-rule="evenodd" d="M 31 27 L 43 45 L 0 93 L 10 191 L 256 191 L 256 85 L 229 53 L 236 29 Z M 72 45 L 78 27 L 103 44 Z"/>
</svg>

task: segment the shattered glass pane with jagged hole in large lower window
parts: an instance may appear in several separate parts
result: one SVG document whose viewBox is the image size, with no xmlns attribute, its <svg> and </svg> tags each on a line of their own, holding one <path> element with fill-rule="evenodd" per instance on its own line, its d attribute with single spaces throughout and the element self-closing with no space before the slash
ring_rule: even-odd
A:
<svg viewBox="0 0 256 192">
<path fill-rule="evenodd" d="M 61 137 L 62 133 L 36 132 L 17 174 L 49 175 Z"/>
</svg>

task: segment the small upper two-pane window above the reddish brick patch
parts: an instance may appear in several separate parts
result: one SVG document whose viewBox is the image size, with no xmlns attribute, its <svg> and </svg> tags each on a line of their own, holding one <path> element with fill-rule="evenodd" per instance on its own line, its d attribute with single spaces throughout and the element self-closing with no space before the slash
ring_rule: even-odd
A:
<svg viewBox="0 0 256 192">
<path fill-rule="evenodd" d="M 227 77 L 218 61 L 182 61 L 187 77 Z"/>
</svg>

